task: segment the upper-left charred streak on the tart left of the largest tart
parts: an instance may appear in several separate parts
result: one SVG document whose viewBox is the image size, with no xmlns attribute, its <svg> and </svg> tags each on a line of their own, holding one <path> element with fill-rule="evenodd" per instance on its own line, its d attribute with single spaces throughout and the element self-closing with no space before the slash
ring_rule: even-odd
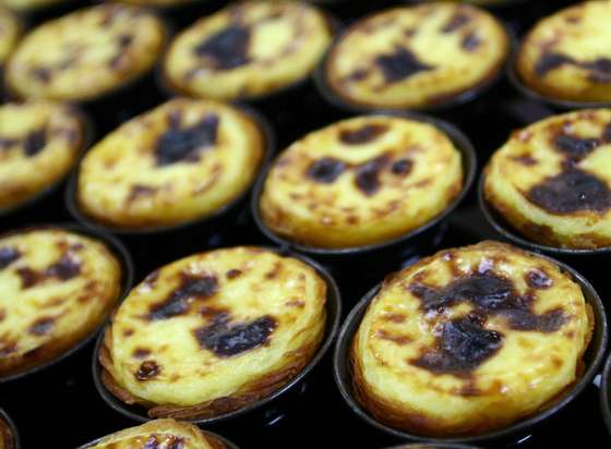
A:
<svg viewBox="0 0 611 449">
<path fill-rule="evenodd" d="M 190 274 L 181 274 L 180 284 L 175 289 L 167 300 L 154 304 L 146 319 L 151 321 L 169 319 L 183 315 L 189 311 L 189 304 L 194 300 L 206 300 L 218 291 L 218 282 L 214 276 L 197 277 Z"/>
</svg>

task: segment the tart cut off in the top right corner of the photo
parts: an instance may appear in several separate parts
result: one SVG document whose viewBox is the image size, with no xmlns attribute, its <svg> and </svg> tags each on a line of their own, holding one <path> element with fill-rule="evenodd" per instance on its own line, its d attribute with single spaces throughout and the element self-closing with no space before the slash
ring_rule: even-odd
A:
<svg viewBox="0 0 611 449">
<path fill-rule="evenodd" d="M 560 100 L 611 101 L 611 1 L 586 1 L 539 21 L 516 70 L 537 93 Z"/>
</svg>

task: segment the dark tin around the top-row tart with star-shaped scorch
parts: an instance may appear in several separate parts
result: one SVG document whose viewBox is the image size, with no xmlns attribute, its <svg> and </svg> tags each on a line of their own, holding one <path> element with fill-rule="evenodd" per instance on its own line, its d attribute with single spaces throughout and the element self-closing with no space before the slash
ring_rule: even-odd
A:
<svg viewBox="0 0 611 449">
<path fill-rule="evenodd" d="M 526 0 L 526 1 L 530 1 L 530 0 Z M 406 4 L 405 7 L 409 7 L 410 4 Z M 414 5 L 414 4 L 411 4 Z M 380 11 L 370 13 L 364 15 L 363 17 L 360 17 L 358 20 L 358 22 L 368 20 L 374 15 L 376 15 L 378 13 L 380 13 Z M 499 64 L 499 66 L 495 69 L 494 73 L 490 74 L 488 77 L 486 77 L 484 80 L 482 80 L 479 84 L 477 84 L 476 86 L 471 87 L 468 90 L 458 93 L 456 95 L 453 96 L 448 96 L 448 98 L 446 100 L 442 100 L 439 102 L 435 102 L 433 105 L 428 105 L 428 106 L 420 106 L 420 107 L 397 107 L 397 108 L 380 108 L 376 107 L 374 105 L 372 106 L 368 106 L 366 104 L 358 104 L 355 101 L 349 101 L 347 99 L 343 99 L 339 97 L 339 95 L 336 95 L 331 85 L 327 83 L 326 81 L 326 68 L 328 64 L 328 59 L 331 58 L 331 54 L 333 53 L 334 49 L 337 47 L 337 45 L 350 33 L 350 31 L 352 29 L 352 26 L 348 26 L 346 27 L 344 31 L 342 31 L 340 33 L 338 33 L 332 44 L 330 45 L 327 51 L 325 52 L 324 57 L 322 58 L 321 62 L 319 63 L 319 65 L 316 66 L 314 73 L 313 73 L 313 81 L 314 81 L 314 85 L 316 87 L 316 89 L 319 90 L 319 94 L 321 95 L 321 97 L 323 97 L 330 105 L 332 105 L 333 107 L 347 112 L 347 113 L 371 113 L 371 112 L 375 112 L 375 111 L 416 111 L 416 112 L 420 112 L 420 113 L 435 113 L 435 112 L 448 112 L 452 111 L 455 108 L 458 108 L 460 106 L 465 106 L 474 100 L 476 100 L 478 97 L 480 97 L 481 95 L 486 94 L 487 92 L 491 90 L 494 86 L 496 86 L 505 76 L 505 72 L 508 70 L 508 68 L 511 66 L 511 61 L 513 61 L 513 59 L 515 58 L 514 53 L 517 49 L 517 37 L 515 35 L 515 33 L 508 27 L 508 25 L 503 22 L 501 19 L 499 17 L 494 17 L 499 25 L 505 31 L 505 35 L 507 37 L 507 54 L 505 56 L 505 59 L 501 62 L 501 64 Z"/>
</svg>

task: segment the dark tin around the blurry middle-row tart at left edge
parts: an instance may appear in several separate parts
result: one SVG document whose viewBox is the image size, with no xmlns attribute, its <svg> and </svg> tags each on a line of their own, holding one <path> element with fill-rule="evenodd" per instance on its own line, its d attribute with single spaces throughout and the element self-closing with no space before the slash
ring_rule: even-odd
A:
<svg viewBox="0 0 611 449">
<path fill-rule="evenodd" d="M 69 170 L 69 172 L 57 180 L 55 183 L 35 193 L 29 198 L 9 208 L 0 208 L 0 231 L 8 231 L 11 228 L 23 225 L 33 225 L 40 219 L 46 220 L 46 217 L 58 205 L 61 207 L 62 194 L 67 180 L 70 173 L 79 165 L 80 159 L 86 153 L 94 139 L 94 124 L 89 116 L 83 112 L 80 108 L 68 105 L 71 111 L 76 116 L 83 129 L 83 142 L 77 150 L 77 156 Z"/>
</svg>

